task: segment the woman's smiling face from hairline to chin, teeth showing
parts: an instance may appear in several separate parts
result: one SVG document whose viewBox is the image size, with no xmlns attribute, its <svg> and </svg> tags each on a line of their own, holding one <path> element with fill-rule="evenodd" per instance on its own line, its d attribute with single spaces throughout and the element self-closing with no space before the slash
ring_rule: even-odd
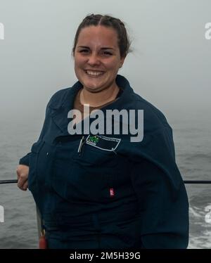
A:
<svg viewBox="0 0 211 263">
<path fill-rule="evenodd" d="M 115 87 L 115 78 L 124 63 L 120 57 L 117 33 L 113 28 L 84 27 L 75 47 L 75 74 L 84 89 L 98 92 Z"/>
</svg>

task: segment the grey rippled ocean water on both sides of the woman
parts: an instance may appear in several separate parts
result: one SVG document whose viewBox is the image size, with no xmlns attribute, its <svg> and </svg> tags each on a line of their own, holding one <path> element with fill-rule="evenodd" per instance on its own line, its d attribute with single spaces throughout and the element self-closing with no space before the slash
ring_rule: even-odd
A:
<svg viewBox="0 0 211 263">
<path fill-rule="evenodd" d="M 206 115 L 183 115 L 168 119 L 174 131 L 177 165 L 183 179 L 211 179 L 211 124 Z M 0 179 L 16 179 L 18 160 L 37 140 L 40 120 L 1 120 Z M 188 248 L 211 248 L 211 184 L 186 185 L 190 203 L 190 240 Z M 37 218 L 30 191 L 16 184 L 0 184 L 0 205 L 4 223 L 0 223 L 0 248 L 37 248 Z M 206 220 L 208 218 L 208 220 Z"/>
</svg>

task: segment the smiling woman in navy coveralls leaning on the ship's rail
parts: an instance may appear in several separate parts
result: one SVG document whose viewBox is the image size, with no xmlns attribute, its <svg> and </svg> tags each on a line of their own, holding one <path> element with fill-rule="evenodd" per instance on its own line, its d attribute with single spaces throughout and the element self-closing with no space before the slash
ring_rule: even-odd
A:
<svg viewBox="0 0 211 263">
<path fill-rule="evenodd" d="M 128 50 L 119 19 L 84 18 L 72 50 L 79 81 L 52 96 L 38 141 L 20 159 L 18 187 L 32 191 L 49 248 L 188 245 L 188 198 L 175 163 L 172 129 L 157 108 L 117 75 Z M 87 104 L 91 115 L 104 114 L 99 129 L 109 110 L 135 113 L 129 118 L 138 126 L 142 115 L 137 112 L 143 110 L 143 138 L 132 140 L 132 122 L 123 117 L 115 121 L 115 116 L 111 126 L 106 122 L 107 133 L 78 129 L 74 134 L 79 124 L 89 124 Z M 117 124 L 119 130 L 110 132 Z"/>
</svg>

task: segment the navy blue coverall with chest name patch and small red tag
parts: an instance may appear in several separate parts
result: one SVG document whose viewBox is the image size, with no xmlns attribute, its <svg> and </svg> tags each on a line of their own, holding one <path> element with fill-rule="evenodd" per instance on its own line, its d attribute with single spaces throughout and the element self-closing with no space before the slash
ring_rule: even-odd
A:
<svg viewBox="0 0 211 263">
<path fill-rule="evenodd" d="M 165 116 L 117 75 L 123 92 L 106 110 L 143 110 L 143 140 L 131 134 L 68 134 L 82 84 L 54 94 L 41 134 L 20 159 L 49 248 L 186 248 L 188 198 Z"/>
</svg>

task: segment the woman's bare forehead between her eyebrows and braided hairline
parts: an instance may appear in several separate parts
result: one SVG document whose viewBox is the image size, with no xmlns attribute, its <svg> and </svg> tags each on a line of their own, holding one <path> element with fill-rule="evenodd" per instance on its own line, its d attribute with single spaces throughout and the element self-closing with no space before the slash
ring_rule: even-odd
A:
<svg viewBox="0 0 211 263">
<path fill-rule="evenodd" d="M 111 27 L 89 26 L 79 33 L 77 46 L 113 46 L 118 47 L 117 32 Z"/>
</svg>

